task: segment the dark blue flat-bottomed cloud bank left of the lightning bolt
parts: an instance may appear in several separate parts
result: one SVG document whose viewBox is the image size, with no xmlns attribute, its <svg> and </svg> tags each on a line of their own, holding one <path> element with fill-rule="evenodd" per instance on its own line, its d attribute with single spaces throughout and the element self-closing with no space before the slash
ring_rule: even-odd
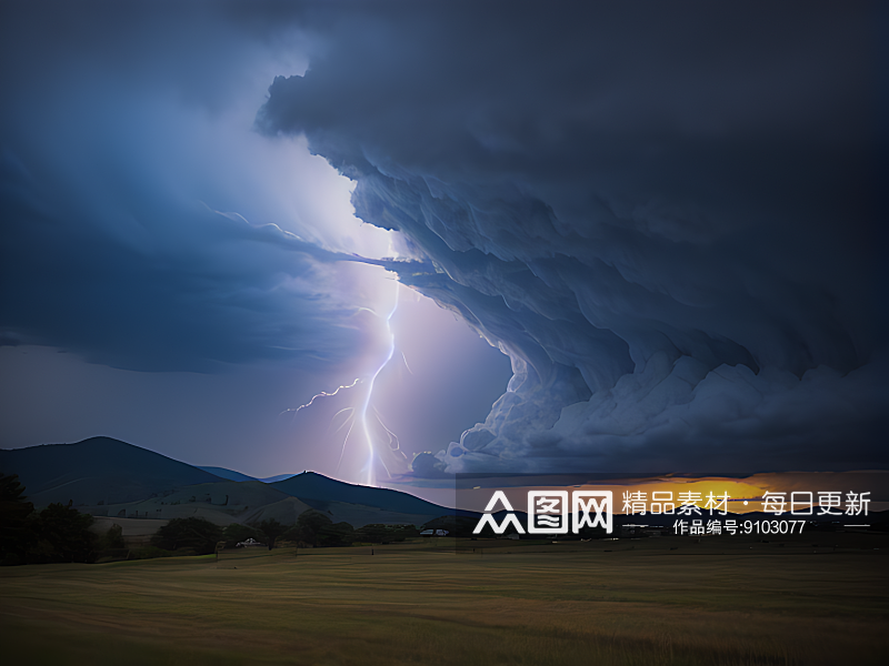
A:
<svg viewBox="0 0 889 666">
<path fill-rule="evenodd" d="M 323 291 L 316 256 L 332 253 L 200 204 L 156 200 L 150 183 L 114 210 L 122 220 L 111 232 L 101 202 L 16 182 L 24 174 L 4 165 L 2 323 L 19 339 L 147 371 L 317 365 L 360 347 L 352 312 Z"/>
</svg>

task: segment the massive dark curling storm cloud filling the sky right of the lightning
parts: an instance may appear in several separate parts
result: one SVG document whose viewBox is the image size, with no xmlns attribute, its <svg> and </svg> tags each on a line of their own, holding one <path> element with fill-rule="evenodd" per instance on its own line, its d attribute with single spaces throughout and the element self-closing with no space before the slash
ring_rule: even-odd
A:
<svg viewBox="0 0 889 666">
<path fill-rule="evenodd" d="M 871 6 L 349 7 L 257 124 L 513 364 L 418 471 L 885 464 Z"/>
</svg>

